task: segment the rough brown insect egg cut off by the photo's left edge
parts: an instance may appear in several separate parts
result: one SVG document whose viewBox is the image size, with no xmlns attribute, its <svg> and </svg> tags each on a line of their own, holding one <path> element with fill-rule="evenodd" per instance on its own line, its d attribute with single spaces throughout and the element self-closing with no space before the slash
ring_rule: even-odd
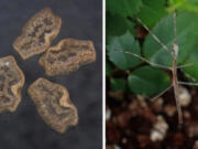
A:
<svg viewBox="0 0 198 149">
<path fill-rule="evenodd" d="M 14 111 L 21 102 L 24 74 L 13 56 L 0 58 L 0 113 Z"/>
</svg>

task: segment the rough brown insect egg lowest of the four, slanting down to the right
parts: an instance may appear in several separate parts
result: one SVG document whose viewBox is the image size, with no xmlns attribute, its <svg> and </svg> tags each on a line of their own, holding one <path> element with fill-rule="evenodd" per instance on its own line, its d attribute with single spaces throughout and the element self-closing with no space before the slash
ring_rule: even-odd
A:
<svg viewBox="0 0 198 149">
<path fill-rule="evenodd" d="M 31 84 L 29 94 L 41 117 L 56 131 L 65 132 L 69 126 L 77 125 L 77 109 L 64 86 L 40 77 Z"/>
</svg>

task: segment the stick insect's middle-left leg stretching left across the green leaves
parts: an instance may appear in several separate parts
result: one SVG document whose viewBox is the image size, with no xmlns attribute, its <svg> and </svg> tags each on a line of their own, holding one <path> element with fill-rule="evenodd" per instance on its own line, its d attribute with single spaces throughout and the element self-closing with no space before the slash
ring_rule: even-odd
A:
<svg viewBox="0 0 198 149">
<path fill-rule="evenodd" d="M 172 68 L 168 67 L 168 66 L 161 65 L 161 64 L 155 64 L 155 63 L 153 63 L 153 62 L 150 62 L 150 61 L 147 61 L 146 58 L 144 58 L 144 57 L 138 55 L 138 54 L 134 54 L 134 53 L 132 53 L 132 52 L 128 52 L 128 51 L 116 51 L 116 52 L 120 52 L 120 53 L 125 53 L 125 54 L 132 55 L 132 56 L 138 57 L 138 58 L 142 60 L 143 62 L 150 64 L 151 66 L 154 66 L 154 67 L 157 67 L 157 68 L 172 70 Z"/>
</svg>

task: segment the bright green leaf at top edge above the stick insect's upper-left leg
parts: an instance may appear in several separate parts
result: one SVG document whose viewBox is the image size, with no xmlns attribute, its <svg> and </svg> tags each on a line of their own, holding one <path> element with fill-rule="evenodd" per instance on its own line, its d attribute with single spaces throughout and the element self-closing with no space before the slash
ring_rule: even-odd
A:
<svg viewBox="0 0 198 149">
<path fill-rule="evenodd" d="M 142 0 L 143 7 L 141 8 L 138 17 L 152 28 L 158 20 L 167 14 L 165 9 L 165 0 Z"/>
</svg>

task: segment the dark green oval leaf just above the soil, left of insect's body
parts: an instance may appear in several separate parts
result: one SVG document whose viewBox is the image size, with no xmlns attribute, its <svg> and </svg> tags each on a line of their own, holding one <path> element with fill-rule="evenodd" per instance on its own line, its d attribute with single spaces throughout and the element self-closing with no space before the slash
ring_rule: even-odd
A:
<svg viewBox="0 0 198 149">
<path fill-rule="evenodd" d="M 151 66 L 143 66 L 129 75 L 129 86 L 135 94 L 155 95 L 169 86 L 169 77 Z"/>
</svg>

